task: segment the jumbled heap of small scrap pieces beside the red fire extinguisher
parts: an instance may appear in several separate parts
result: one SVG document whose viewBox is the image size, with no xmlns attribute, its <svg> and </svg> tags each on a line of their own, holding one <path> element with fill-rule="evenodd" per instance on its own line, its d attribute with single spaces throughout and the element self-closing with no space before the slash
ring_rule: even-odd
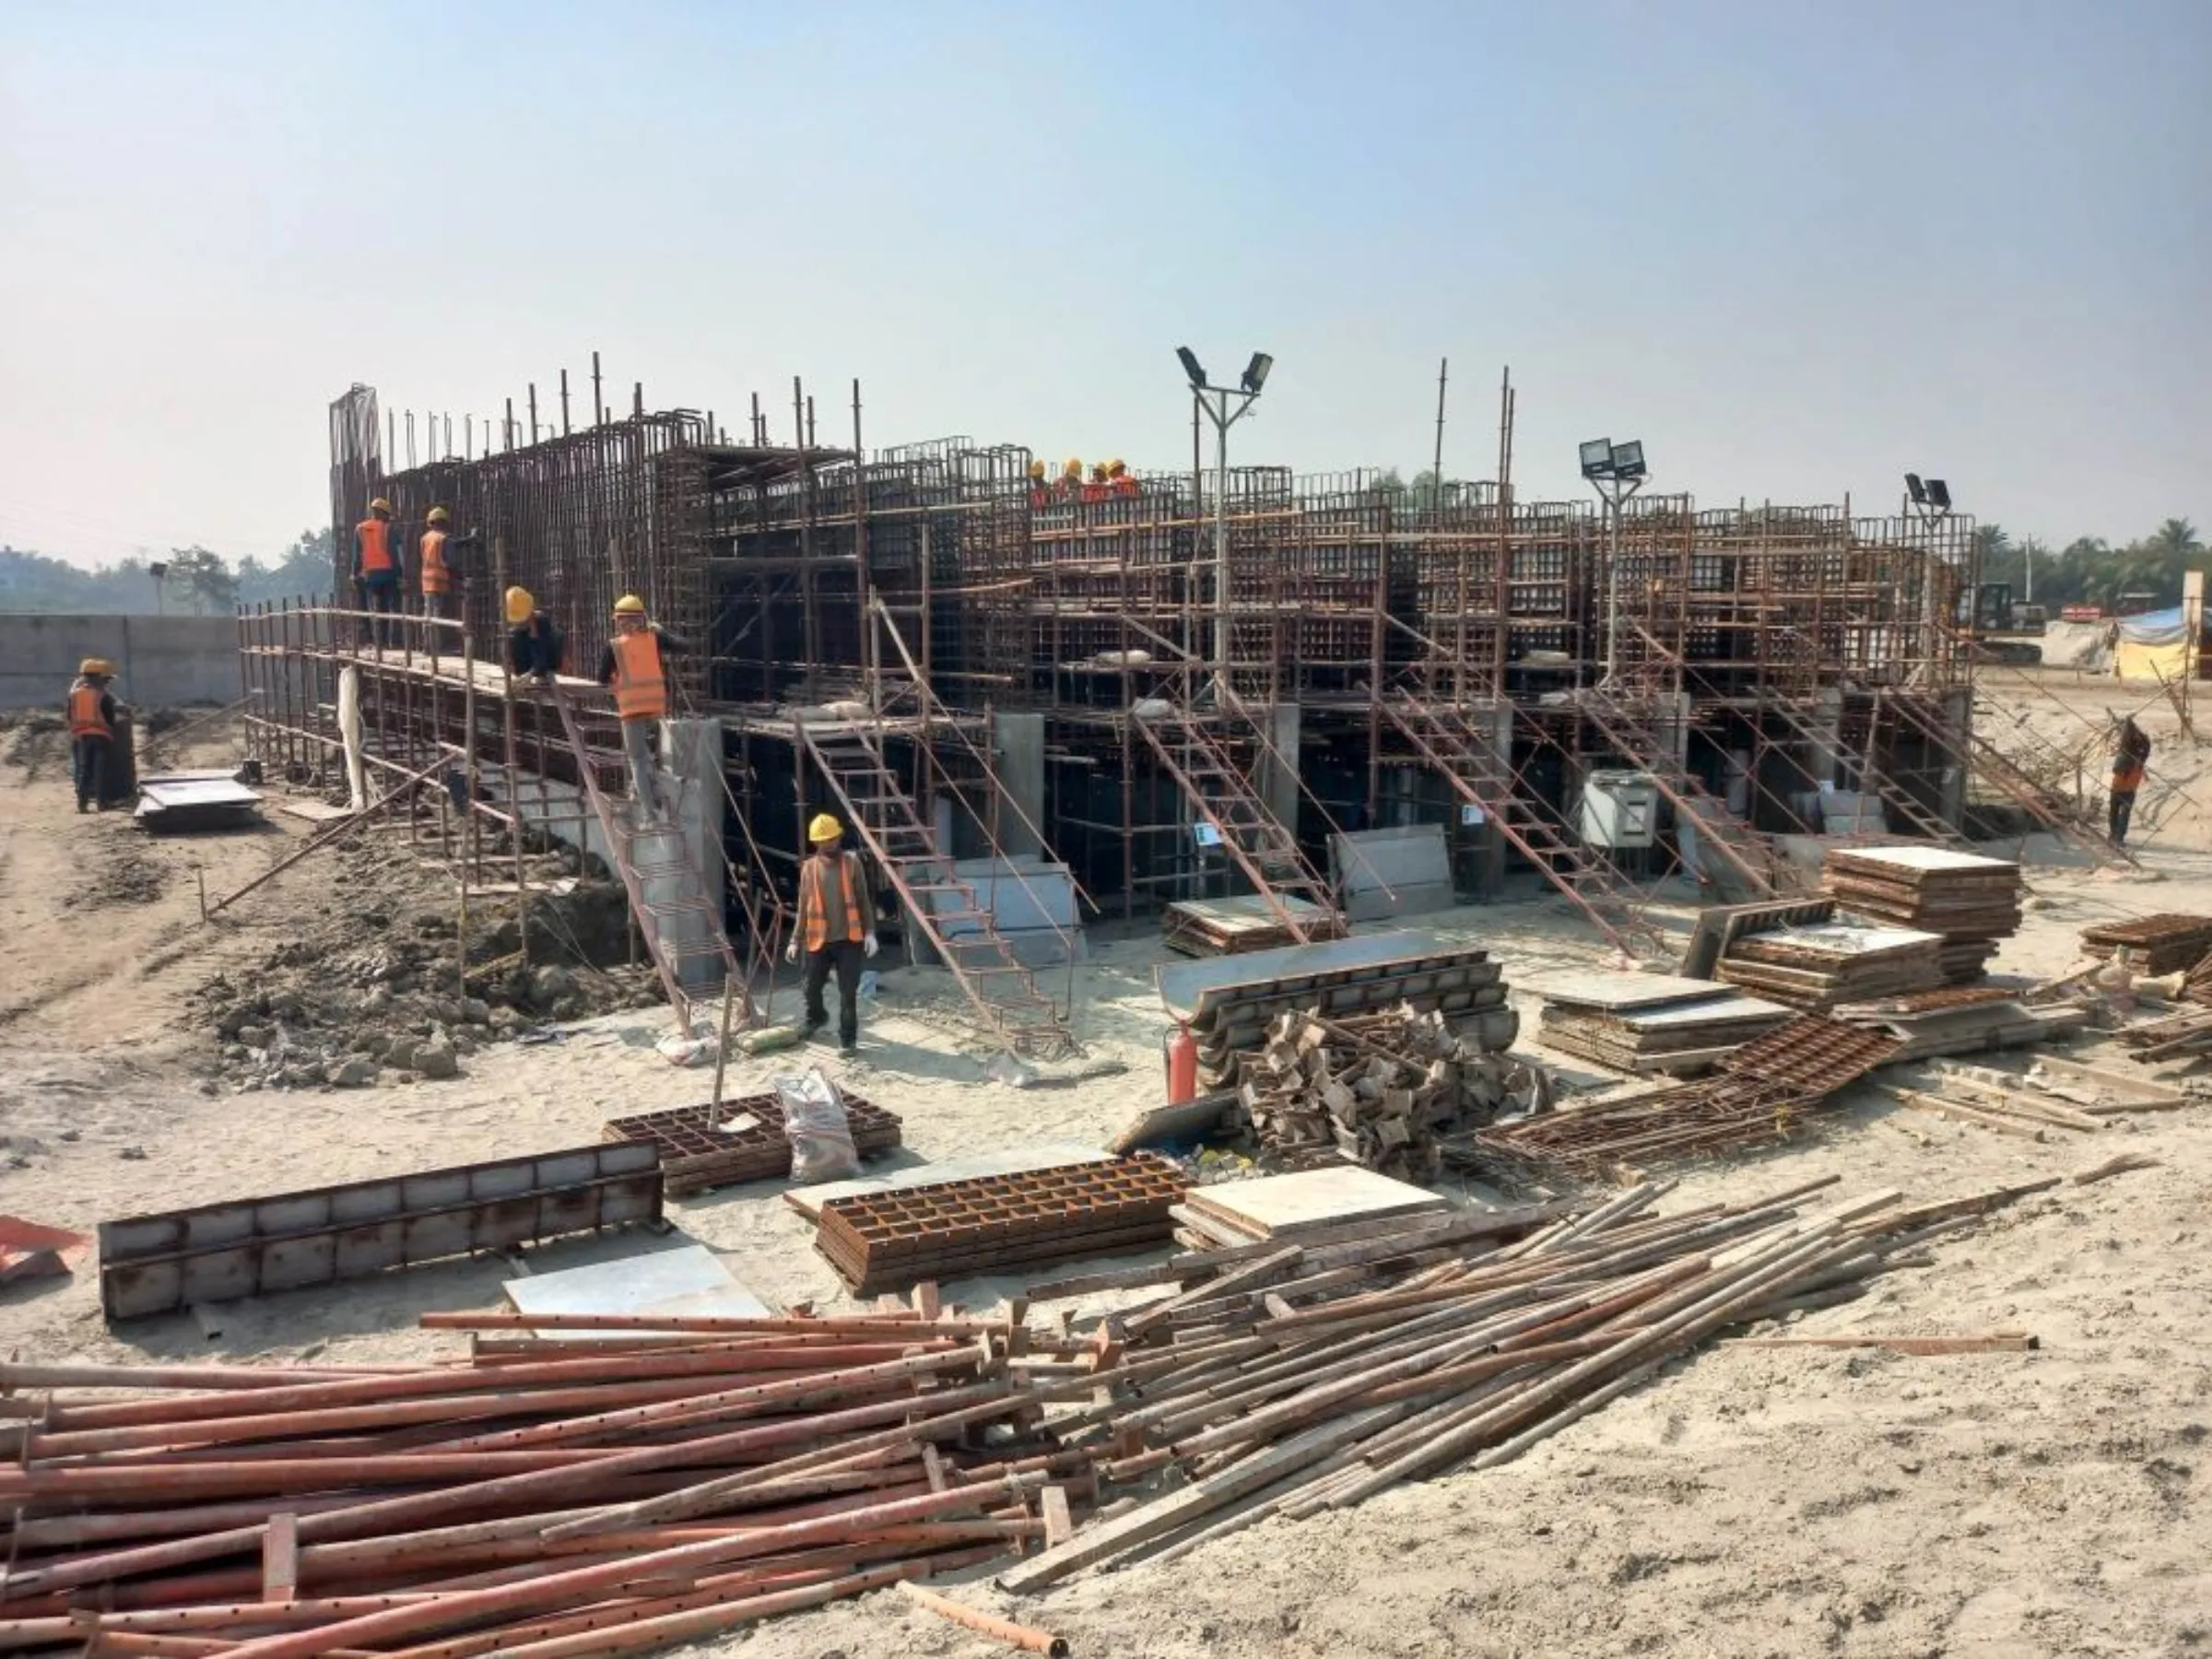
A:
<svg viewBox="0 0 2212 1659">
<path fill-rule="evenodd" d="M 1451 1141 L 1500 1113 L 1546 1106 L 1542 1068 L 1484 1051 L 1442 1013 L 1283 1013 L 1245 1055 L 1225 1128 L 1263 1152 L 1318 1150 L 1431 1181 Z"/>
</svg>

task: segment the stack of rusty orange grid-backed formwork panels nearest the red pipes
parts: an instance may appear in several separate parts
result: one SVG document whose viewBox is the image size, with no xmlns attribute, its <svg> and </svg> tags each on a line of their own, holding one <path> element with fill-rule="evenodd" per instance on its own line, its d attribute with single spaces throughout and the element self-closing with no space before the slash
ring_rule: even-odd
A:
<svg viewBox="0 0 2212 1659">
<path fill-rule="evenodd" d="M 1190 1177 L 1150 1152 L 830 1199 L 814 1248 L 854 1294 L 1040 1261 L 1146 1250 L 1175 1237 Z"/>
</svg>

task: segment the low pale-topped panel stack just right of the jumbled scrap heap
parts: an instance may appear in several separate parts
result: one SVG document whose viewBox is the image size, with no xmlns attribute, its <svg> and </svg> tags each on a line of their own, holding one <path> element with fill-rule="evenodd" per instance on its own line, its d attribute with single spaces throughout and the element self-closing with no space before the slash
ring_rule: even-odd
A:
<svg viewBox="0 0 2212 1659">
<path fill-rule="evenodd" d="M 1790 1018 L 1778 1002 L 1663 973 L 1575 973 L 1528 989 L 1544 998 L 1537 1042 L 1646 1077 L 1710 1071 Z"/>
</svg>

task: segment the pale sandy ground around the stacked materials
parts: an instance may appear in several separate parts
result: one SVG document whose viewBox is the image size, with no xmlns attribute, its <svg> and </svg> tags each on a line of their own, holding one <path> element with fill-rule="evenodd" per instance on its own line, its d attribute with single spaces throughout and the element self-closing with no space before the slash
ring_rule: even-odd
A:
<svg viewBox="0 0 2212 1659">
<path fill-rule="evenodd" d="M 190 759 L 219 757 L 210 745 Z M 2194 776 L 2179 726 L 2161 757 Z M 2199 818 L 2190 807 L 2170 823 L 2179 843 Z M 453 1082 L 201 1093 L 206 1033 L 184 995 L 265 958 L 312 914 L 327 872 L 310 860 L 215 927 L 199 922 L 197 878 L 230 891 L 296 834 L 303 825 L 276 821 L 155 843 L 117 814 L 80 818 L 51 765 L 35 776 L 0 765 L 0 1212 L 91 1230 L 139 1210 L 593 1141 L 613 1115 L 703 1097 L 708 1077 L 655 1055 L 666 1026 L 635 1013 L 568 1026 L 546 1046 L 487 1048 Z M 2035 865 L 2028 927 L 1997 969 L 2066 969 L 2093 920 L 2212 911 L 2212 854 L 2152 838 L 2146 865 L 2148 878 Z M 128 902 L 95 902 L 117 883 Z M 1688 911 L 1668 920 L 1679 933 Z M 1515 980 L 1597 958 L 1566 907 L 1540 896 L 1425 925 L 1489 945 Z M 1079 975 L 1091 1060 L 1126 1062 L 1117 1077 L 1060 1091 L 989 1082 L 942 975 L 916 969 L 885 975 L 858 1062 L 825 1064 L 902 1115 L 909 1159 L 1099 1139 L 1157 1099 L 1152 960 L 1146 938 L 1106 940 Z M 779 1068 L 790 1057 L 741 1062 L 732 1086 Z M 1845 1192 L 1938 1199 L 2115 1150 L 2159 1157 L 2022 1203 L 1938 1243 L 1933 1267 L 1803 1321 L 1805 1332 L 2015 1327 L 2035 1332 L 2039 1352 L 1708 1349 L 1504 1469 L 1272 1522 L 1170 1568 L 1084 1575 L 1020 1617 L 1082 1655 L 1164 1659 L 2212 1652 L 2212 1106 L 2117 1119 L 2086 1144 L 1913 1117 L 1922 1144 L 1885 1113 L 1867 1095 L 1798 1144 L 1688 1172 L 1677 1201 L 1747 1199 L 1829 1170 Z M 688 1237 L 768 1301 L 841 1301 L 776 1188 L 684 1199 L 670 1214 L 679 1237 L 549 1245 L 531 1265 Z M 420 1356 L 453 1338 L 414 1329 L 416 1312 L 489 1305 L 511 1274 L 504 1261 L 462 1261 L 228 1305 L 217 1334 L 181 1316 L 117 1334 L 84 1259 L 62 1287 L 0 1292 L 0 1349 Z M 984 1305 L 1009 1283 L 947 1296 Z M 982 1584 L 964 1593 L 998 1601 Z M 763 1659 L 1000 1652 L 891 1595 L 719 1646 Z"/>
</svg>

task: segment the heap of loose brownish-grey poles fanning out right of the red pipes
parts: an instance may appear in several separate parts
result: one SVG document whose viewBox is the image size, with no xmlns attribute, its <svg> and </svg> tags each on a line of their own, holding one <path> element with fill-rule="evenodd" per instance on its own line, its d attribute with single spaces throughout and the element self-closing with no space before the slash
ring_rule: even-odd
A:
<svg viewBox="0 0 2212 1659">
<path fill-rule="evenodd" d="M 1172 1559 L 1270 1515 L 1506 1462 L 1708 1338 L 1849 1301 L 1887 1267 L 1924 1265 L 1900 1252 L 1933 1232 L 2055 1183 L 1809 1208 L 1834 1179 L 1668 1217 L 1652 1214 L 1666 1188 L 1641 1186 L 1511 1245 L 1429 1223 L 1245 1254 L 1124 1312 L 1106 1325 L 1113 1398 L 1057 1427 L 1097 1449 L 1106 1482 L 1181 1480 L 998 1582 L 1020 1593 L 1115 1557 Z"/>
</svg>

